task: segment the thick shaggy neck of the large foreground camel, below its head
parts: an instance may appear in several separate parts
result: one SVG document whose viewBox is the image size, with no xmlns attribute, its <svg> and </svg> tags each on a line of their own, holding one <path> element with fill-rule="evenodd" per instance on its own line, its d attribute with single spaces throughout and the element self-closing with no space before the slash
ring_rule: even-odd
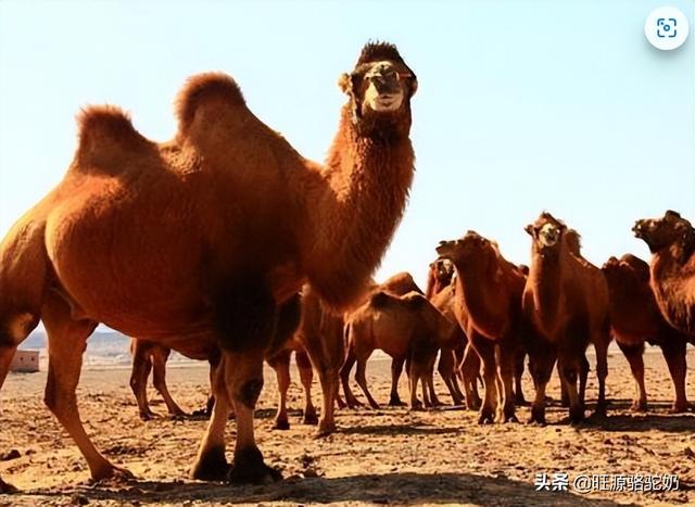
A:
<svg viewBox="0 0 695 507">
<path fill-rule="evenodd" d="M 329 304 L 356 297 L 405 208 L 414 153 L 407 136 L 363 137 L 343 109 L 312 214 L 309 281 Z"/>
</svg>

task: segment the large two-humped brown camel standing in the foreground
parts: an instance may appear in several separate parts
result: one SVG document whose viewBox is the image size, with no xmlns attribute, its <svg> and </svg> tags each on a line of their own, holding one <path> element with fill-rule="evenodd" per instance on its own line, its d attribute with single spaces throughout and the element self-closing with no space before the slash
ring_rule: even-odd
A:
<svg viewBox="0 0 695 507">
<path fill-rule="evenodd" d="M 414 175 L 417 78 L 396 48 L 366 45 L 339 87 L 348 100 L 325 165 L 254 116 L 222 73 L 188 80 L 168 142 L 146 139 L 114 106 L 79 114 L 65 177 L 0 243 L 0 380 L 42 319 L 46 404 L 92 479 L 127 474 L 94 447 L 77 409 L 81 355 L 99 322 L 177 351 L 219 346 L 215 405 L 191 476 L 281 479 L 265 465 L 253 427 L 264 356 L 281 346 L 281 309 L 299 314 L 288 302 L 305 282 L 331 307 L 353 304 L 391 241 Z"/>
</svg>

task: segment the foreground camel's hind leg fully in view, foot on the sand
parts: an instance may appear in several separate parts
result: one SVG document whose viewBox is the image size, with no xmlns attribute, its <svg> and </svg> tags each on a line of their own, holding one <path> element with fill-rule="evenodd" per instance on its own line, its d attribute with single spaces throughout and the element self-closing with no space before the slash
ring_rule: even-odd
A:
<svg viewBox="0 0 695 507">
<path fill-rule="evenodd" d="M 48 379 L 45 402 L 87 460 L 93 480 L 130 476 L 104 458 L 85 432 L 75 390 L 79 382 L 87 338 L 97 327 L 89 320 L 73 320 L 71 309 L 55 293 L 48 293 L 41 317 L 48 332 Z"/>
</svg>

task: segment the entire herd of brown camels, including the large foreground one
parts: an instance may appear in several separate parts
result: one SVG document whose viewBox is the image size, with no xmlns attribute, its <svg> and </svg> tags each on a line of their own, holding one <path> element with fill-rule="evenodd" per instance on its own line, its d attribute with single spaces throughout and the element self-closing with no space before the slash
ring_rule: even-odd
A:
<svg viewBox="0 0 695 507">
<path fill-rule="evenodd" d="M 438 371 L 455 404 L 479 422 L 516 421 L 526 403 L 525 359 L 535 388 L 531 421 L 545 420 L 545 388 L 557 364 L 571 421 L 584 417 L 585 351 L 596 350 L 596 413 L 606 411 L 612 338 L 646 407 L 644 343 L 659 345 L 687 409 L 685 344 L 695 339 L 695 230 L 675 212 L 639 220 L 650 266 L 626 255 L 597 268 L 579 235 L 548 213 L 527 227 L 531 265 L 506 261 L 473 231 L 435 248 L 422 292 L 407 274 L 370 278 L 403 215 L 413 181 L 410 100 L 417 78 L 389 43 L 368 43 L 350 73 L 338 131 L 324 164 L 301 156 L 248 109 L 224 74 L 193 76 L 176 101 L 174 139 L 153 142 L 114 106 L 78 116 L 78 145 L 63 180 L 0 243 L 0 384 L 17 345 L 41 320 L 49 340 L 46 404 L 85 457 L 94 480 L 129 477 L 92 444 L 75 390 L 86 341 L 99 324 L 132 339 L 130 384 L 151 417 L 150 372 L 168 410 L 172 350 L 210 362 L 210 421 L 191 477 L 278 480 L 254 438 L 263 364 L 279 388 L 275 424 L 288 428 L 289 362 L 296 353 L 306 392 L 304 422 L 336 430 L 334 406 L 372 407 L 366 365 L 377 348 L 392 359 L 389 403 L 440 403 Z M 323 407 L 311 401 L 318 376 Z M 478 392 L 482 380 L 482 400 Z M 344 400 L 340 394 L 340 388 Z M 422 402 L 418 398 L 421 388 Z M 233 413 L 233 461 L 225 429 Z M 0 479 L 0 492 L 14 487 Z"/>
</svg>

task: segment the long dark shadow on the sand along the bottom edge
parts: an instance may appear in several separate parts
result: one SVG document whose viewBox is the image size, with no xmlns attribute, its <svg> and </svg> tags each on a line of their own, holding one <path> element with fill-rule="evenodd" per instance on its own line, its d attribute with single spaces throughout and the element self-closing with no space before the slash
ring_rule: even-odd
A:
<svg viewBox="0 0 695 507">
<path fill-rule="evenodd" d="M 35 491 L 36 496 L 72 495 L 86 502 L 258 504 L 270 502 L 369 504 L 475 504 L 485 506 L 617 506 L 607 499 L 586 498 L 571 492 L 536 491 L 532 480 L 470 473 L 388 473 L 342 478 L 291 478 L 264 486 L 231 486 L 191 482 L 134 481 L 118 487 L 77 487 Z M 636 505 L 636 504 L 632 504 Z"/>
</svg>

